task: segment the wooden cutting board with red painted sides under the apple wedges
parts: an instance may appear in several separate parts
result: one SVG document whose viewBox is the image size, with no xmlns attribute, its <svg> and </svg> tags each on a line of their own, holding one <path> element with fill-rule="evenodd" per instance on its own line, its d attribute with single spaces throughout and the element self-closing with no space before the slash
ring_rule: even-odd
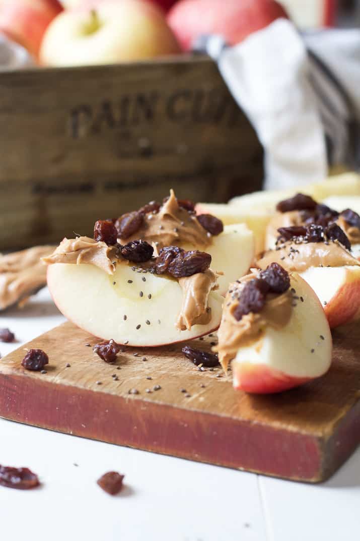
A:
<svg viewBox="0 0 360 541">
<path fill-rule="evenodd" d="M 209 349 L 214 340 L 192 345 Z M 220 368 L 199 371 L 181 345 L 127 348 L 109 365 L 89 347 L 96 341 L 70 323 L 32 340 L 24 347 L 48 353 L 46 374 L 23 369 L 24 347 L 4 357 L 0 416 L 314 483 L 331 476 L 360 443 L 358 325 L 335 331 L 334 362 L 323 378 L 267 396 L 234 391 L 231 374 Z M 129 394 L 131 389 L 138 394 Z"/>
</svg>

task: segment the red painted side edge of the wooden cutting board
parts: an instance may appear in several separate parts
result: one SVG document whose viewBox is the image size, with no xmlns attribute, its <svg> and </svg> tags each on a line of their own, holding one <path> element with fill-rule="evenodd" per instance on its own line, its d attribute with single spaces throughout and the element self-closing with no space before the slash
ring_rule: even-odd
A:
<svg viewBox="0 0 360 541">
<path fill-rule="evenodd" d="M 358 414 L 357 410 L 354 419 Z M 334 461 L 327 456 L 326 442 L 309 434 L 5 374 L 0 374 L 0 416 L 74 436 L 312 483 L 328 478 L 358 443 L 351 439 L 352 419 L 344 425 L 342 448 Z"/>
</svg>

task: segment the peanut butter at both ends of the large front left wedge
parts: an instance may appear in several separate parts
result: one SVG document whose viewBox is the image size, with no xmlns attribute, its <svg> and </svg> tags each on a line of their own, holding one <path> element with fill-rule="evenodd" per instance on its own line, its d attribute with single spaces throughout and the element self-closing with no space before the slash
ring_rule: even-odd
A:
<svg viewBox="0 0 360 541">
<path fill-rule="evenodd" d="M 101 268 L 107 274 L 114 274 L 118 263 L 129 265 L 129 261 L 118 258 L 115 247 L 84 236 L 77 239 L 64 239 L 54 253 L 43 257 L 42 261 L 47 265 L 87 263 Z M 141 263 L 141 267 L 149 269 L 151 262 Z M 43 274 L 45 282 L 45 270 Z M 211 269 L 207 269 L 204 273 L 179 278 L 178 282 L 183 290 L 183 302 L 176 326 L 184 331 L 190 329 L 192 325 L 208 324 L 211 320 L 211 310 L 208 306 L 209 294 L 217 288 L 217 275 Z"/>
</svg>

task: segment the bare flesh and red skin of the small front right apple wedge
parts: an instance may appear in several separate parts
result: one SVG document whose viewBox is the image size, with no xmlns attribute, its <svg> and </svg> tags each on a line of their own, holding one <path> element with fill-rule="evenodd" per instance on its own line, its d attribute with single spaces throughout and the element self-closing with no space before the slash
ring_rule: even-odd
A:
<svg viewBox="0 0 360 541">
<path fill-rule="evenodd" d="M 277 393 L 329 370 L 332 339 L 317 295 L 296 273 L 290 275 L 290 287 L 298 300 L 288 324 L 279 330 L 266 326 L 255 342 L 238 349 L 232 361 L 235 389 Z"/>
</svg>

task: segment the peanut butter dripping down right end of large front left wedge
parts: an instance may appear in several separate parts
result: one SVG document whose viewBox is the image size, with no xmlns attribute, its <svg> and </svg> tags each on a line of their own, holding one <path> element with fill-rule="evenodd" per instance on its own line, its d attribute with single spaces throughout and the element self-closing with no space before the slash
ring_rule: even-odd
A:
<svg viewBox="0 0 360 541">
<path fill-rule="evenodd" d="M 208 301 L 210 291 L 216 289 L 216 274 L 208 269 L 203 273 L 179 278 L 183 289 L 183 302 L 176 326 L 180 331 L 188 331 L 192 325 L 207 325 L 211 321 L 211 308 Z"/>
</svg>

